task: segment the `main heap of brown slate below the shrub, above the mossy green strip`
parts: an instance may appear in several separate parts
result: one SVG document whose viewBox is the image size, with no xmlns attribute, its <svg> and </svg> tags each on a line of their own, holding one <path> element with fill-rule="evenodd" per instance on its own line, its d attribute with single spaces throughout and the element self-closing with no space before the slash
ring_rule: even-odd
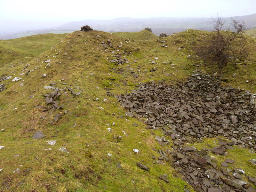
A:
<svg viewBox="0 0 256 192">
<path fill-rule="evenodd" d="M 254 100 L 249 91 L 222 88 L 219 77 L 199 74 L 185 84 L 143 84 L 118 98 L 133 116 L 147 119 L 147 129 L 162 128 L 165 135 L 184 138 L 222 135 L 256 149 Z"/>
</svg>

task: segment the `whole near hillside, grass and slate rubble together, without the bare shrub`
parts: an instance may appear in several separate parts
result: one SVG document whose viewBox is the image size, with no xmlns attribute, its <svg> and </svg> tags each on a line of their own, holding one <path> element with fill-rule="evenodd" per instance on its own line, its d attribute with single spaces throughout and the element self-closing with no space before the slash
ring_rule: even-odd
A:
<svg viewBox="0 0 256 192">
<path fill-rule="evenodd" d="M 0 41 L 1 56 L 8 51 L 0 60 L 0 191 L 231 191 L 220 177 L 234 180 L 236 168 L 254 190 L 248 160 L 256 158 L 255 110 L 241 89 L 256 92 L 256 55 L 222 71 L 196 66 L 188 60 L 191 46 L 209 33 L 188 29 L 157 38 L 144 30 L 94 30 Z M 217 99 L 230 93 L 220 96 L 230 111 L 211 108 L 218 100 L 209 95 L 214 91 L 206 94 L 209 86 L 220 89 Z M 232 114 L 239 118 L 226 119 Z M 241 127 L 236 120 L 246 129 L 234 130 L 243 139 L 232 143 L 226 133 Z M 211 131 L 212 124 L 218 125 Z M 213 149 L 227 143 L 225 154 Z M 234 161 L 225 164 L 227 175 L 226 159 Z"/>
</svg>

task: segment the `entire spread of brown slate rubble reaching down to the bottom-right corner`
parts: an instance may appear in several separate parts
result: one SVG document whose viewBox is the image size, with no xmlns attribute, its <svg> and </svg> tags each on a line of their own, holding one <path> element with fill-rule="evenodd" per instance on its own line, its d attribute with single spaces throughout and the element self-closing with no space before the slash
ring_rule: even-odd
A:
<svg viewBox="0 0 256 192">
<path fill-rule="evenodd" d="M 160 150 L 158 160 L 172 162 L 196 191 L 255 191 L 255 175 L 234 167 L 232 159 L 226 158 L 219 166 L 209 154 L 227 156 L 235 146 L 248 148 L 252 154 L 256 149 L 255 94 L 223 88 L 220 82 L 219 76 L 197 73 L 184 84 L 138 85 L 135 91 L 118 95 L 118 101 L 128 109 L 128 116 L 144 119 L 147 129 L 161 129 L 165 136 L 155 139 L 172 149 Z M 215 137 L 218 143 L 201 150 L 191 147 L 204 137 Z M 172 157 L 166 158 L 167 153 Z M 154 163 L 161 164 L 158 160 Z M 255 166 L 256 159 L 250 162 Z"/>
</svg>

